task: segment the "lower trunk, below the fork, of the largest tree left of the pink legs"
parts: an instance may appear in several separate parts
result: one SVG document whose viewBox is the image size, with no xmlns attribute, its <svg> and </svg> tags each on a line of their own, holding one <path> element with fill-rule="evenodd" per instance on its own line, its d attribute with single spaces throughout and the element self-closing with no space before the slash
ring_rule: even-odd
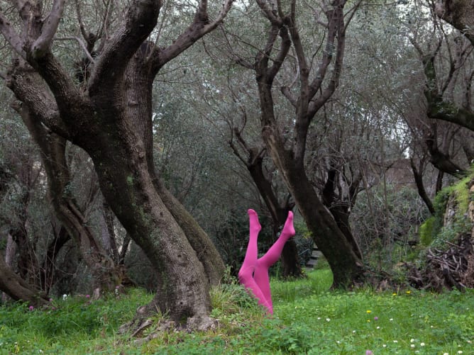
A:
<svg viewBox="0 0 474 355">
<path fill-rule="evenodd" d="M 157 294 L 148 308 L 178 322 L 207 316 L 209 282 L 204 268 L 155 189 L 143 142 L 131 128 L 123 129 L 129 130 L 125 139 L 111 137 L 109 131 L 89 142 L 100 142 L 89 152 L 107 203 L 158 274 Z"/>
</svg>

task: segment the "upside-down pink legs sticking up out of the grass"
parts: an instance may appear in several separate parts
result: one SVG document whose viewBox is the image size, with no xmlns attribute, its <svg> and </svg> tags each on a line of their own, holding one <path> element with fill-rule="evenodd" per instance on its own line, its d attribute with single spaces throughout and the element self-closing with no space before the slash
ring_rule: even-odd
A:
<svg viewBox="0 0 474 355">
<path fill-rule="evenodd" d="M 268 278 L 268 269 L 275 264 L 287 240 L 294 235 L 293 227 L 293 213 L 288 212 L 285 226 L 278 237 L 275 244 L 268 249 L 268 252 L 258 259 L 257 239 L 258 233 L 261 230 L 260 222 L 258 222 L 258 215 L 254 210 L 248 210 L 248 218 L 250 219 L 250 239 L 248 240 L 248 247 L 246 257 L 243 259 L 241 270 L 238 271 L 238 280 L 250 289 L 258 299 L 258 304 L 265 306 L 270 314 L 273 314 L 272 294 L 270 292 L 270 280 Z"/>
</svg>

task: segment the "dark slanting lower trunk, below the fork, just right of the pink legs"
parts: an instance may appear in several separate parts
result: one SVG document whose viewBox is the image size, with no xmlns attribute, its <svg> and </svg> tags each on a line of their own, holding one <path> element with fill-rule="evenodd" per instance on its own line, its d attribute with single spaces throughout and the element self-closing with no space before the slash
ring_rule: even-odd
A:
<svg viewBox="0 0 474 355">
<path fill-rule="evenodd" d="M 272 158 L 282 171 L 299 212 L 312 232 L 314 242 L 331 266 L 334 276 L 333 287 L 345 288 L 353 285 L 363 274 L 363 265 L 353 247 L 329 210 L 319 200 L 302 164 L 298 164 L 292 153 L 285 150 L 269 126 L 263 128 L 263 138 Z"/>
</svg>

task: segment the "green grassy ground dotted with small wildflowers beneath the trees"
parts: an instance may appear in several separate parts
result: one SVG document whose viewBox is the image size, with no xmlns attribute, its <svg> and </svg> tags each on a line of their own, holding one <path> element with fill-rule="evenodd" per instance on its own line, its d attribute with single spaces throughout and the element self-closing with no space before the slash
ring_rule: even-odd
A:
<svg viewBox="0 0 474 355">
<path fill-rule="evenodd" d="M 50 310 L 0 308 L 0 354 L 474 354 L 474 292 L 329 292 L 331 273 L 272 282 L 273 317 L 242 288 L 214 289 L 215 332 L 161 332 L 138 346 L 118 335 L 152 295 L 140 290 Z M 148 332 L 153 332 L 149 329 Z"/>
</svg>

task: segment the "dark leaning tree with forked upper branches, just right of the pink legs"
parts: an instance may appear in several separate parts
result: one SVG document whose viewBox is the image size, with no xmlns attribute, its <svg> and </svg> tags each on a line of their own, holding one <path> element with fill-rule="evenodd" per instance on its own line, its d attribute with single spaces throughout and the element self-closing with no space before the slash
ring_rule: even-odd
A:
<svg viewBox="0 0 474 355">
<path fill-rule="evenodd" d="M 325 26 L 326 46 L 321 55 L 319 67 L 316 70 L 313 69 L 315 74 L 311 81 L 309 79 L 312 74 L 310 67 L 314 66 L 314 57 L 305 53 L 294 11 L 295 1 L 292 1 L 290 11 L 287 13 L 271 11 L 265 1 L 257 0 L 257 3 L 271 26 L 265 48 L 258 52 L 255 64 L 248 64 L 248 67 L 253 67 L 255 70 L 255 79 L 258 84 L 262 137 L 273 162 L 282 172 L 287 188 L 306 221 L 308 229 L 312 232 L 314 241 L 331 266 L 334 275 L 333 286 L 348 287 L 363 277 L 363 265 L 346 239 L 346 235 L 316 195 L 304 169 L 304 154 L 312 119 L 334 94 L 338 85 L 346 37 L 345 18 L 351 18 L 351 16 L 343 13 L 345 0 L 334 1 L 325 9 L 324 13 L 328 21 Z M 356 8 L 357 6 L 354 9 Z M 272 86 L 291 47 L 297 58 L 298 70 L 294 74 L 299 81 L 299 89 L 296 91 L 297 94 L 294 94 L 295 91 L 291 91 L 289 87 L 282 86 L 281 88 L 282 94 L 295 111 L 292 138 L 288 140 L 282 134 L 277 122 Z M 327 83 L 324 81 L 326 75 Z"/>
</svg>

